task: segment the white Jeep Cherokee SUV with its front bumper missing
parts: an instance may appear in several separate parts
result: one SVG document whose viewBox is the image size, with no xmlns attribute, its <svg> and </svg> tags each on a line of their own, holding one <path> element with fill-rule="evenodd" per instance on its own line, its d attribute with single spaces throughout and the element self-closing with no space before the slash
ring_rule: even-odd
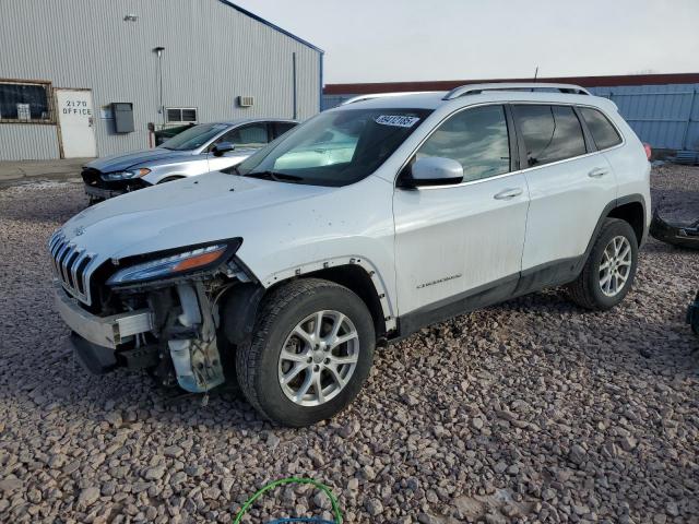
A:
<svg viewBox="0 0 699 524">
<path fill-rule="evenodd" d="M 479 84 L 352 100 L 224 172 L 85 210 L 49 249 L 88 368 L 190 392 L 237 377 L 305 426 L 357 395 L 377 344 L 427 324 L 547 286 L 619 303 L 650 210 L 613 102 Z"/>
</svg>

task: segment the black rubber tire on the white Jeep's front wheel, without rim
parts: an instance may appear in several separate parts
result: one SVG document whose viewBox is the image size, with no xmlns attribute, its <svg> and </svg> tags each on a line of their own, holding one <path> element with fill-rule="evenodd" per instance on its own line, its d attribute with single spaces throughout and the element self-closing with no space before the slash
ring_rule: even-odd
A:
<svg viewBox="0 0 699 524">
<path fill-rule="evenodd" d="M 324 404 L 303 406 L 282 390 L 280 355 L 292 330 L 305 318 L 323 310 L 337 311 L 352 321 L 358 335 L 358 359 L 348 382 L 334 397 Z M 263 417 L 284 426 L 309 426 L 331 418 L 359 393 L 369 376 L 375 345 L 371 314 L 357 295 L 328 281 L 294 281 L 272 290 L 260 305 L 251 343 L 236 352 L 238 383 Z"/>
</svg>

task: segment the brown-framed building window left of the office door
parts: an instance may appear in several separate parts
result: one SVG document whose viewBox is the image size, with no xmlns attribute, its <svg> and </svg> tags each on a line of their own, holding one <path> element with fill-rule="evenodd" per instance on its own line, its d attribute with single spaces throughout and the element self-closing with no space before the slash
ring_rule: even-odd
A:
<svg viewBox="0 0 699 524">
<path fill-rule="evenodd" d="M 54 123 L 51 84 L 0 80 L 0 121 Z"/>
</svg>

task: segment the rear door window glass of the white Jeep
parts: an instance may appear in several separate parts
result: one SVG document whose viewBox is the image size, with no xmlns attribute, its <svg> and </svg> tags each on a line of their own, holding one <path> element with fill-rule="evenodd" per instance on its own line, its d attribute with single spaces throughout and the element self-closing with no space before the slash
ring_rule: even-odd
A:
<svg viewBox="0 0 699 524">
<path fill-rule="evenodd" d="M 530 167 L 587 153 L 582 127 L 572 107 L 528 104 L 513 106 L 512 110 Z"/>
</svg>

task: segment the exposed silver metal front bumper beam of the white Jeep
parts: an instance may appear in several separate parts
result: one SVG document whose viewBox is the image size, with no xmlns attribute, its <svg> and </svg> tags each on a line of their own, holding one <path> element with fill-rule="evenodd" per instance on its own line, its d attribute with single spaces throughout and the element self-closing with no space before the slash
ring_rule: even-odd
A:
<svg viewBox="0 0 699 524">
<path fill-rule="evenodd" d="M 153 329 L 153 314 L 150 310 L 97 317 L 81 308 L 58 282 L 54 284 L 54 298 L 63 322 L 85 341 L 97 346 L 116 349 L 126 342 L 125 338 Z"/>
</svg>

